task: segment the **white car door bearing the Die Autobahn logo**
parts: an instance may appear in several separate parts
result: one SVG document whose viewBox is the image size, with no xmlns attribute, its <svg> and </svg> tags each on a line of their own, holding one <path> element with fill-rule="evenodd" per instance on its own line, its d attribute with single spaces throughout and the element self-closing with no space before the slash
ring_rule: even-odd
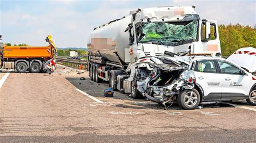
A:
<svg viewBox="0 0 256 143">
<path fill-rule="evenodd" d="M 223 75 L 221 99 L 244 99 L 250 91 L 250 76 L 242 75 L 242 69 L 225 60 L 217 60 Z"/>
</svg>

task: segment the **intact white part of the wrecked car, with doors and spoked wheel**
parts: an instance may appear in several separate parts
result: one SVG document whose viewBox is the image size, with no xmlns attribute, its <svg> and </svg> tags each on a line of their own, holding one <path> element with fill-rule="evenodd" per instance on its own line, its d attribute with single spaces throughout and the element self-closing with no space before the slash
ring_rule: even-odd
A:
<svg viewBox="0 0 256 143">
<path fill-rule="evenodd" d="M 256 105 L 256 77 L 223 58 L 196 57 L 190 67 L 196 76 L 195 88 L 180 94 L 179 105 L 194 109 L 201 101 L 246 99 Z M 199 97 L 200 96 L 200 97 Z"/>
</svg>

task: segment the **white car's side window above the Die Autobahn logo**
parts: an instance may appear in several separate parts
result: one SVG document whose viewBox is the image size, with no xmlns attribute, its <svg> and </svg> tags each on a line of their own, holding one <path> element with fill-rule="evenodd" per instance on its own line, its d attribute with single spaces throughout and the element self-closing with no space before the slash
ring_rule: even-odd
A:
<svg viewBox="0 0 256 143">
<path fill-rule="evenodd" d="M 234 66 L 232 63 L 226 62 L 226 61 L 218 61 L 220 66 L 220 71 L 223 74 L 241 74 L 241 70 Z"/>
</svg>

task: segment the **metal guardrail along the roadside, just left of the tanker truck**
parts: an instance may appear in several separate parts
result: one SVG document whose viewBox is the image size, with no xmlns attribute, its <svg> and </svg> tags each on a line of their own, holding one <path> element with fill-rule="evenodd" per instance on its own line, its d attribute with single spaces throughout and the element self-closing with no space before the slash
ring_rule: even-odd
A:
<svg viewBox="0 0 256 143">
<path fill-rule="evenodd" d="M 60 63 L 61 65 L 73 67 L 73 68 L 79 68 L 80 65 L 82 64 L 83 65 L 82 69 L 88 70 L 88 61 L 87 60 L 57 58 L 57 63 Z"/>
</svg>

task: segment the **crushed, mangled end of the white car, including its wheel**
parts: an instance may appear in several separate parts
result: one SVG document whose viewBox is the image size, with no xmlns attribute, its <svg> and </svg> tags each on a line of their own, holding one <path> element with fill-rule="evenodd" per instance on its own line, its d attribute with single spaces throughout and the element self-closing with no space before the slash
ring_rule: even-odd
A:
<svg viewBox="0 0 256 143">
<path fill-rule="evenodd" d="M 132 88 L 132 94 L 146 96 L 150 101 L 163 104 L 165 108 L 174 102 L 181 102 L 181 99 L 178 99 L 179 94 L 186 90 L 192 91 L 196 80 L 193 71 L 188 70 L 190 60 L 190 56 L 171 57 L 168 55 L 140 59 L 140 62 L 136 64 L 135 81 L 133 82 L 137 83 L 133 87 L 138 87 L 138 89 Z M 199 104 L 200 96 L 191 93 L 185 102 L 189 102 L 186 105 L 191 106 L 192 109 Z M 183 106 L 182 103 L 179 104 Z"/>
</svg>

